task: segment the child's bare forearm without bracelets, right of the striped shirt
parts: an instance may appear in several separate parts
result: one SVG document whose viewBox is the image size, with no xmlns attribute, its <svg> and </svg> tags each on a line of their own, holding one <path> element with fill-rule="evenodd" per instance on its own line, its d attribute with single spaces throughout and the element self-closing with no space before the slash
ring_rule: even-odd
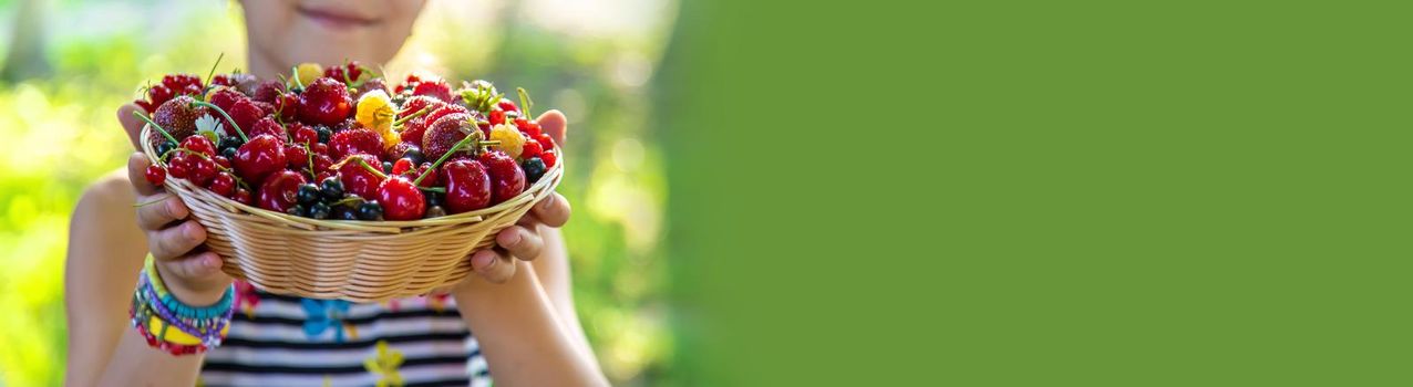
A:
<svg viewBox="0 0 1413 387">
<path fill-rule="evenodd" d="M 534 268 L 512 264 L 516 271 L 504 284 L 472 277 L 452 290 L 496 384 L 608 386 L 593 356 L 560 321 Z"/>
</svg>

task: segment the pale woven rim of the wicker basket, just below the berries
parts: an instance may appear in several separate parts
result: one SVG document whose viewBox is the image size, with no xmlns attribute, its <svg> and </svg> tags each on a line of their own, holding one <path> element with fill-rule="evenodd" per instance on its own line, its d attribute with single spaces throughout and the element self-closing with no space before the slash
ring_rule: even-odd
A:
<svg viewBox="0 0 1413 387">
<path fill-rule="evenodd" d="M 158 160 L 154 155 L 155 151 L 153 150 L 151 141 L 148 141 L 148 138 L 151 138 L 151 136 L 153 136 L 151 124 L 144 124 L 143 126 L 143 131 L 141 131 L 141 137 L 140 137 L 141 138 L 143 154 L 147 155 L 147 160 L 151 161 L 153 164 L 161 165 L 161 167 L 165 168 L 167 164 L 164 161 Z M 478 209 L 478 210 L 462 212 L 462 213 L 452 213 L 452 215 L 438 216 L 438 218 L 425 218 L 425 219 L 417 219 L 417 220 L 328 220 L 328 219 L 321 220 L 321 219 L 312 219 L 312 218 L 304 218 L 304 216 L 294 216 L 294 215 L 274 212 L 274 210 L 268 210 L 268 209 L 263 209 L 263 208 L 257 208 L 257 206 L 250 206 L 250 205 L 246 205 L 246 203 L 242 203 L 242 202 L 237 202 L 235 199 L 225 198 L 225 196 L 220 196 L 220 195 L 208 195 L 208 196 L 215 198 L 215 201 L 218 201 L 216 205 L 220 205 L 220 206 L 223 206 L 226 209 L 235 209 L 235 212 L 237 212 L 237 213 L 249 213 L 249 215 L 254 215 L 254 216 L 260 216 L 260 218 L 266 218 L 266 219 L 270 219 L 270 220 L 280 222 L 280 223 L 283 223 L 285 226 L 292 227 L 294 230 L 291 230 L 291 232 L 301 232 L 301 230 L 302 232 L 312 232 L 312 233 L 355 232 L 360 237 L 369 237 L 367 234 L 365 234 L 366 232 L 386 233 L 386 234 L 400 234 L 400 233 L 407 233 L 407 232 L 413 232 L 413 230 L 424 229 L 424 227 L 431 227 L 431 226 L 476 223 L 476 222 L 485 220 L 486 218 L 493 218 L 492 215 L 502 215 L 503 212 L 507 212 L 507 210 L 510 210 L 510 209 L 513 209 L 516 206 L 520 206 L 526 201 L 540 201 L 540 199 L 544 199 L 544 196 L 547 196 L 550 192 L 554 192 L 554 189 L 560 185 L 560 175 L 564 174 L 562 148 L 558 144 L 555 144 L 554 150 L 558 151 L 558 153 L 561 153 L 561 158 L 558 160 L 558 162 L 555 162 L 554 167 L 551 167 L 548 171 L 545 171 L 544 175 L 540 177 L 540 181 L 537 181 L 536 184 L 533 184 L 530 186 L 526 186 L 526 189 L 523 192 L 520 192 L 520 195 L 516 195 L 514 198 L 510 198 L 510 199 L 507 199 L 504 202 L 500 202 L 500 203 L 497 203 L 495 206 L 489 206 L 489 208 L 483 208 L 483 209 Z M 196 186 L 195 184 L 191 184 L 187 179 L 174 178 L 174 177 L 167 177 L 167 179 L 168 181 L 171 181 L 171 179 L 179 181 L 178 182 L 179 185 L 185 185 L 185 186 L 179 188 L 182 191 L 188 191 L 188 189 L 205 189 L 205 188 Z M 552 186 L 547 186 L 547 185 L 552 185 Z M 544 195 L 536 195 L 537 192 L 544 194 Z M 253 194 L 254 192 L 252 192 L 252 195 Z M 185 195 L 185 196 L 198 196 L 198 195 Z M 206 199 L 206 198 L 188 198 L 188 199 L 201 199 L 201 201 L 208 201 L 209 202 L 209 199 Z"/>
</svg>

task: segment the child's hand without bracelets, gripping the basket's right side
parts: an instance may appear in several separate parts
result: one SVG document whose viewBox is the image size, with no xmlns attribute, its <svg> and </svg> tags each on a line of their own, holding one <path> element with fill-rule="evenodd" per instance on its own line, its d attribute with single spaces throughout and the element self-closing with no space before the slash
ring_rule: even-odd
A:
<svg viewBox="0 0 1413 387">
<path fill-rule="evenodd" d="M 550 110 L 540 114 L 540 127 L 555 144 L 564 144 L 567 121 L 560 110 Z M 510 226 L 496 234 L 496 249 L 480 250 L 471 254 L 471 267 L 478 275 L 492 282 L 504 282 L 516 274 L 513 260 L 534 260 L 545 251 L 541 232 L 547 227 L 560 227 L 569 220 L 569 201 L 558 192 L 550 194 L 534 208 Z"/>
</svg>

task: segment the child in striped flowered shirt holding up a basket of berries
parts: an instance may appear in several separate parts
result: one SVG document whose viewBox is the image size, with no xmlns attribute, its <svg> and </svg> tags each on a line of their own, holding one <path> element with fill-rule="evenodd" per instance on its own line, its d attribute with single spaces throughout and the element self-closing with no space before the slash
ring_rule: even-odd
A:
<svg viewBox="0 0 1413 387">
<path fill-rule="evenodd" d="M 300 62 L 387 62 L 424 6 L 240 3 L 247 68 L 261 79 Z M 117 112 L 134 144 L 137 110 L 129 105 Z M 555 141 L 564 140 L 561 113 L 538 120 Z M 451 299 L 349 305 L 266 294 L 242 282 L 222 346 L 182 356 L 153 347 L 127 315 L 148 253 L 153 274 L 192 308 L 218 304 L 232 278 L 220 271 L 220 257 L 201 249 L 206 233 L 182 202 L 143 178 L 147 165 L 146 155 L 134 153 L 126 174 L 89 186 L 75 209 L 65 273 L 69 386 L 485 386 L 490 374 L 503 386 L 606 384 L 574 314 L 557 229 L 568 220 L 569 205 L 560 195 L 499 233 L 500 249 L 472 254 L 478 275 L 449 288 Z M 134 210 L 137 202 L 153 203 Z"/>
</svg>

